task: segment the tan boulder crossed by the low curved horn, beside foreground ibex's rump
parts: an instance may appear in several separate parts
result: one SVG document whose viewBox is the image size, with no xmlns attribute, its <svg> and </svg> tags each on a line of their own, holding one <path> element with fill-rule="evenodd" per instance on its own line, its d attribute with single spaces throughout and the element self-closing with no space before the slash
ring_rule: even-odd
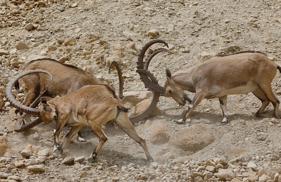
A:
<svg viewBox="0 0 281 182">
<path fill-rule="evenodd" d="M 140 113 L 142 113 L 148 106 L 150 105 L 151 100 L 150 99 L 145 99 L 135 105 L 135 107 L 132 108 L 130 116 L 135 116 Z M 151 114 L 148 117 L 155 117 L 156 115 L 160 114 L 159 108 L 156 106 L 155 109 L 151 112 Z"/>
</svg>

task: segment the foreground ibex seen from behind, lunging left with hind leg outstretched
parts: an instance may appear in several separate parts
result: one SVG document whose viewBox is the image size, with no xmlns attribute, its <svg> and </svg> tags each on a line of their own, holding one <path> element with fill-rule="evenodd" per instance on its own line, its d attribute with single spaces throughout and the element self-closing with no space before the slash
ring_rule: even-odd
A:
<svg viewBox="0 0 281 182">
<path fill-rule="evenodd" d="M 21 74 L 30 74 L 34 70 L 28 70 Z M 46 73 L 46 72 L 45 72 Z M 16 75 L 10 82 L 18 79 Z M 23 76 L 23 75 L 20 75 Z M 57 119 L 56 128 L 54 130 L 54 152 L 62 153 L 65 145 L 71 138 L 78 133 L 83 125 L 90 126 L 93 132 L 98 136 L 100 142 L 96 149 L 92 152 L 89 162 L 93 162 L 100 148 L 107 141 L 107 136 L 102 129 L 102 124 L 110 120 L 114 120 L 131 138 L 138 142 L 149 162 L 153 162 L 145 140 L 138 136 L 133 124 L 128 117 L 128 109 L 124 108 L 121 99 L 115 94 L 115 91 L 109 84 L 96 84 L 84 86 L 77 91 L 67 93 L 63 97 L 55 97 L 49 102 L 45 97 L 41 97 L 42 105 L 34 112 L 39 113 L 43 122 L 49 123 L 55 118 Z M 21 108 L 29 107 L 22 105 Z M 55 110 L 53 109 L 55 108 Z M 65 127 L 72 127 L 70 132 L 65 136 L 63 144 L 59 144 L 60 130 Z"/>
</svg>

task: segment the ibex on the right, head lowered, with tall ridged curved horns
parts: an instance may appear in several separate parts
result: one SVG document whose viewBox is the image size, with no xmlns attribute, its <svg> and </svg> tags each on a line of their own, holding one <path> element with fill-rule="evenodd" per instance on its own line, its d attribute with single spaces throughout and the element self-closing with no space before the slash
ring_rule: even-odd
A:
<svg viewBox="0 0 281 182">
<path fill-rule="evenodd" d="M 185 105 L 186 100 L 190 103 L 183 119 L 173 123 L 184 123 L 203 98 L 218 98 L 223 111 L 223 120 L 221 121 L 221 126 L 223 126 L 229 122 L 226 112 L 227 96 L 250 92 L 262 102 L 261 108 L 254 117 L 259 117 L 271 102 L 274 107 L 273 117 L 277 118 L 280 102 L 273 94 L 271 82 L 277 69 L 281 73 L 281 67 L 269 60 L 263 53 L 241 51 L 230 55 L 219 55 L 190 69 L 179 70 L 173 75 L 166 69 L 165 87 L 161 87 L 149 79 L 155 79 L 148 71 L 151 59 L 147 59 L 143 63 L 145 51 L 157 42 L 166 43 L 155 39 L 146 44 L 140 51 L 137 72 L 140 73 L 141 80 L 148 89 L 165 97 L 172 97 L 179 105 Z M 184 90 L 195 93 L 192 101 L 186 96 Z"/>
</svg>

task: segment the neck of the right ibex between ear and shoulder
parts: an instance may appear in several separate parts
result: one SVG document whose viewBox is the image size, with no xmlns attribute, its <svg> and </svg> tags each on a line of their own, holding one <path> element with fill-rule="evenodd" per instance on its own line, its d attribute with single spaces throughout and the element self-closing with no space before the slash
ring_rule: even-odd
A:
<svg viewBox="0 0 281 182">
<path fill-rule="evenodd" d="M 193 71 L 178 72 L 172 75 L 172 79 L 179 84 L 183 90 L 195 93 L 192 84 L 192 73 Z"/>
</svg>

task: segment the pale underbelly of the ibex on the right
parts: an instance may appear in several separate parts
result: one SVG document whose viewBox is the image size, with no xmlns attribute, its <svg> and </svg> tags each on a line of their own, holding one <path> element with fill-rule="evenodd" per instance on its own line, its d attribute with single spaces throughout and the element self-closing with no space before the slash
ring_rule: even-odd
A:
<svg viewBox="0 0 281 182">
<path fill-rule="evenodd" d="M 212 86 L 209 94 L 205 96 L 207 99 L 222 97 L 226 95 L 248 94 L 258 89 L 258 86 L 250 81 L 247 84 L 242 84 L 233 88 L 225 88 L 223 86 Z"/>
</svg>

